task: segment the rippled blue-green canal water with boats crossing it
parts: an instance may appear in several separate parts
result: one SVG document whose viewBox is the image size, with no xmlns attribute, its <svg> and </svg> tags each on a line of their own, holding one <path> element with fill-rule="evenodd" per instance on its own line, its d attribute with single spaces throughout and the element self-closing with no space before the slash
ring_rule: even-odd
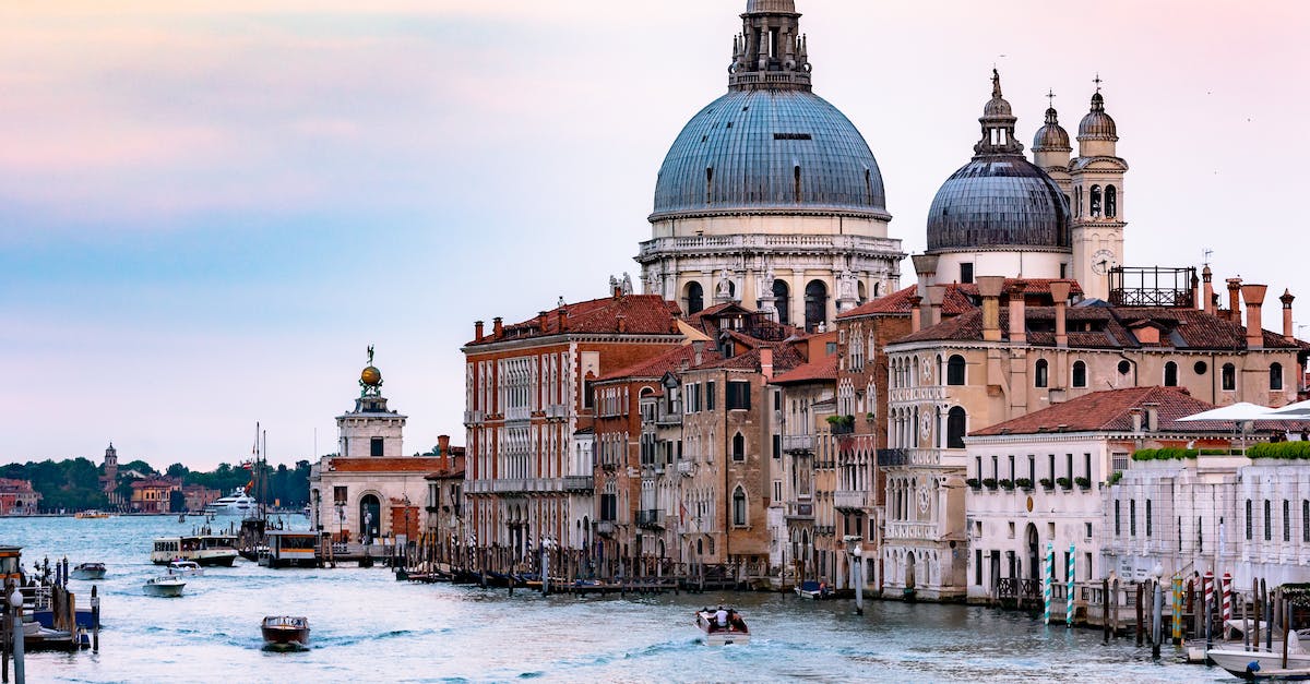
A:
<svg viewBox="0 0 1310 684">
<path fill-rule="evenodd" d="M 219 520 L 223 520 L 221 518 Z M 293 518 L 304 524 L 303 518 Z M 102 561 L 100 653 L 29 654 L 29 681 L 1227 681 L 1222 670 L 1153 662 L 1094 630 L 963 605 L 803 601 L 776 594 L 620 599 L 396 582 L 386 569 L 267 570 L 237 561 L 148 598 L 151 540 L 199 519 L 0 519 L 24 562 Z M 73 580 L 79 604 L 90 583 Z M 707 647 L 702 605 L 736 607 L 747 646 Z M 301 653 L 262 650 L 265 615 L 304 615 Z"/>
</svg>

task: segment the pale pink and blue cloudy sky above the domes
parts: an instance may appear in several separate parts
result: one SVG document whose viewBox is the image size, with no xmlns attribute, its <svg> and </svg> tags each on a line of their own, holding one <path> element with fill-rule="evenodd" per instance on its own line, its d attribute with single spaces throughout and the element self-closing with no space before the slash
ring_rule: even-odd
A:
<svg viewBox="0 0 1310 684">
<path fill-rule="evenodd" d="M 113 7 L 110 7 L 113 5 Z M 360 9 L 367 5 L 367 9 Z M 655 9 L 652 10 L 651 7 Z M 376 346 L 405 451 L 462 444 L 473 321 L 639 273 L 743 0 L 0 4 L 0 463 L 335 451 Z M 1031 142 L 1103 79 L 1128 265 L 1300 295 L 1310 5 L 798 0 L 815 92 L 925 249 L 997 66 Z M 1298 204 L 1297 204 L 1298 206 Z M 903 284 L 913 282 L 904 265 Z M 1267 328 L 1281 320 L 1265 305 Z"/>
</svg>

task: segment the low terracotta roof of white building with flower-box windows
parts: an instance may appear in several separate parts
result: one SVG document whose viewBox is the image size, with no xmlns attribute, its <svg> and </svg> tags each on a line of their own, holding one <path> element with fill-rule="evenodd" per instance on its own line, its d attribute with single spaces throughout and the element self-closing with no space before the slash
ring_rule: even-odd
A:
<svg viewBox="0 0 1310 684">
<path fill-rule="evenodd" d="M 1186 389 L 1167 387 L 1138 387 L 1131 389 L 1110 389 L 1093 392 L 1078 398 L 1056 404 L 1055 406 L 1032 411 L 1027 415 L 993 425 L 972 432 L 973 436 L 1032 435 L 1039 432 L 1128 432 L 1133 428 L 1133 409 L 1142 410 L 1145 405 L 1157 404 L 1159 428 L 1170 432 L 1212 432 L 1233 431 L 1231 423 L 1191 422 L 1179 423 L 1179 418 L 1210 410 L 1213 404 L 1201 401 Z"/>
</svg>

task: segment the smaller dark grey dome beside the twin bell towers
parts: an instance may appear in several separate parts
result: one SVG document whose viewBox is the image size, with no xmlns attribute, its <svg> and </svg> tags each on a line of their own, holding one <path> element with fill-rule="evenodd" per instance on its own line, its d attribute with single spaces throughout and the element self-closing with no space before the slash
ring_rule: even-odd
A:
<svg viewBox="0 0 1310 684">
<path fill-rule="evenodd" d="M 937 191 L 927 250 L 1068 250 L 1069 206 L 1045 172 L 1018 155 L 973 157 Z"/>
</svg>

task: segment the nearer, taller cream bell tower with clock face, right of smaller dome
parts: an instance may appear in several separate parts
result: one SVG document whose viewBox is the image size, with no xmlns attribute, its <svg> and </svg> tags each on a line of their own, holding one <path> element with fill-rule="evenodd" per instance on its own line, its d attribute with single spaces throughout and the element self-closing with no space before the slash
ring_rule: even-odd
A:
<svg viewBox="0 0 1310 684">
<path fill-rule="evenodd" d="M 1119 131 L 1106 114 L 1106 98 L 1091 96 L 1091 111 L 1078 124 L 1078 157 L 1069 162 L 1073 187 L 1073 276 L 1089 299 L 1110 299 L 1110 270 L 1124 263 L 1124 173 Z"/>
</svg>

